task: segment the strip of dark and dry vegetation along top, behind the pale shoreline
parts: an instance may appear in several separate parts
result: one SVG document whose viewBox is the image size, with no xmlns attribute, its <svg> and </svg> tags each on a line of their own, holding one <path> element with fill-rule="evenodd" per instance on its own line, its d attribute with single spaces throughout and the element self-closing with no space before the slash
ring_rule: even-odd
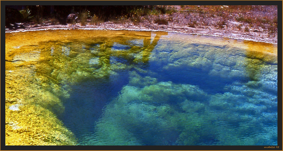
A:
<svg viewBox="0 0 283 151">
<path fill-rule="evenodd" d="M 245 27 L 260 27 L 270 34 L 277 32 L 277 12 L 269 16 L 262 15 L 267 8 L 261 5 L 30 5 L 23 8 L 20 11 L 7 11 L 6 8 L 6 26 L 20 22 L 40 24 L 44 21 L 61 25 L 80 23 L 81 26 L 108 21 L 139 25 L 148 21 L 158 25 L 187 22 L 186 25 L 192 28 L 214 26 L 217 29 L 236 28 L 239 31 Z M 14 12 L 18 12 L 20 17 Z M 179 17 L 180 13 L 185 14 L 184 21 Z M 75 18 L 70 20 L 69 15 Z M 228 20 L 237 22 L 237 25 L 229 25 Z"/>
</svg>

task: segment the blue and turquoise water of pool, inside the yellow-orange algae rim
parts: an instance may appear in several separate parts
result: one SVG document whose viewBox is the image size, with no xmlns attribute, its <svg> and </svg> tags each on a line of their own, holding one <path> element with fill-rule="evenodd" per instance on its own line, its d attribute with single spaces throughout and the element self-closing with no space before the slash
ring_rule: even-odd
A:
<svg viewBox="0 0 283 151">
<path fill-rule="evenodd" d="M 148 51 L 139 43 L 88 46 L 93 56 L 86 68 L 107 64 L 111 72 L 71 83 L 70 96 L 61 97 L 65 111 L 58 118 L 79 145 L 277 145 L 276 63 L 243 50 L 218 53 L 225 46 L 174 50 L 159 40 Z M 133 47 L 140 51 L 99 54 Z"/>
</svg>

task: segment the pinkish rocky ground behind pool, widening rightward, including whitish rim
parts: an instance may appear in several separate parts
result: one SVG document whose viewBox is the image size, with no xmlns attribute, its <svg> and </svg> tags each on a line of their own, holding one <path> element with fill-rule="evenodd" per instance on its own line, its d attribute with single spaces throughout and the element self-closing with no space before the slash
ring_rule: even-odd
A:
<svg viewBox="0 0 283 151">
<path fill-rule="evenodd" d="M 224 6 L 225 7 L 225 6 Z M 130 29 L 130 30 L 165 30 L 171 32 L 181 32 L 188 34 L 204 34 L 221 37 L 232 37 L 236 39 L 262 41 L 277 44 L 277 26 L 270 28 L 271 23 L 247 23 L 237 21 L 240 13 L 225 13 L 218 10 L 218 15 L 210 14 L 205 11 L 188 11 L 186 6 L 174 6 L 175 12 L 170 14 L 140 16 L 138 20 L 118 19 L 107 22 L 91 22 L 88 19 L 86 25 L 73 23 L 67 25 L 54 24 L 50 21 L 35 25 L 34 23 L 19 23 L 23 27 L 20 29 L 6 29 L 6 32 L 18 30 L 37 30 L 54 28 L 99 28 L 99 29 Z M 219 15 L 222 14 L 222 15 Z M 276 18 L 277 7 L 261 6 L 246 12 L 251 19 L 259 17 L 273 19 Z M 241 15 L 241 14 L 240 14 Z M 156 22 L 157 19 L 166 20 L 167 23 Z M 239 20 L 239 19 L 238 19 Z M 273 27 L 273 25 L 271 26 Z"/>
</svg>

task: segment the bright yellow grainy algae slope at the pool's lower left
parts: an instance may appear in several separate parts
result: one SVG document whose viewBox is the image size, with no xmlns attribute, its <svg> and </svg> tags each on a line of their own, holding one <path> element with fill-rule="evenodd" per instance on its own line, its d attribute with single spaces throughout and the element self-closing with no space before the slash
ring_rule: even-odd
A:
<svg viewBox="0 0 283 151">
<path fill-rule="evenodd" d="M 6 145 L 75 145 L 73 134 L 46 108 L 58 105 L 63 110 L 60 100 L 35 84 L 32 70 L 21 66 L 6 71 Z M 10 108 L 15 104 L 17 108 Z"/>
</svg>

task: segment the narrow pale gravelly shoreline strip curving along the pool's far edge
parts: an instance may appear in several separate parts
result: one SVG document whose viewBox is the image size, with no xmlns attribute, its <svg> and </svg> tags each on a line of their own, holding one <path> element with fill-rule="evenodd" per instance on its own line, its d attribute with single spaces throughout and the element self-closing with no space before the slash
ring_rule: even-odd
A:
<svg viewBox="0 0 283 151">
<path fill-rule="evenodd" d="M 170 27 L 169 25 L 157 25 L 156 26 L 136 26 L 131 24 L 111 24 L 111 23 L 103 23 L 99 26 L 96 25 L 86 25 L 80 26 L 79 23 L 75 25 L 47 25 L 47 26 L 37 26 L 30 27 L 26 29 L 18 29 L 18 30 L 6 30 L 6 33 L 10 32 L 24 32 L 24 31 L 32 31 L 32 30 L 58 30 L 58 29 L 85 29 L 85 30 L 137 30 L 137 31 L 166 31 L 166 32 L 175 32 L 175 33 L 186 33 L 186 34 L 198 34 L 198 35 L 207 35 L 207 36 L 216 36 L 216 37 L 228 37 L 234 39 L 241 40 L 251 40 L 256 42 L 266 42 L 271 44 L 277 44 L 277 37 L 259 37 L 256 32 L 250 33 L 236 33 L 235 31 L 226 31 L 226 30 L 218 30 L 218 29 L 203 29 L 198 30 L 190 29 L 190 27 Z"/>
</svg>

